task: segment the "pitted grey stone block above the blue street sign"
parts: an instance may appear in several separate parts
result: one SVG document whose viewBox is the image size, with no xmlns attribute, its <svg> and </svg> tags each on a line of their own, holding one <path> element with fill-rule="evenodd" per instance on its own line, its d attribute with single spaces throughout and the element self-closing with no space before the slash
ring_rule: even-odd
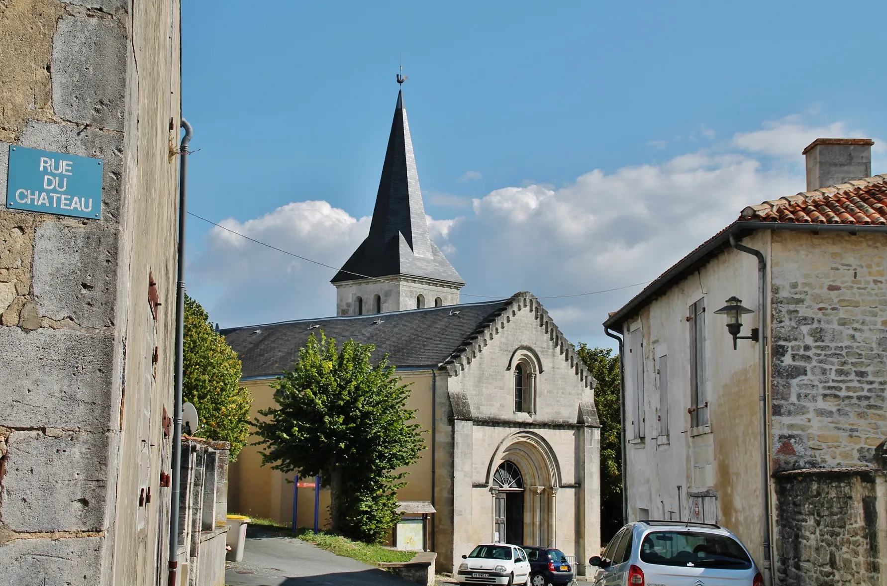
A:
<svg viewBox="0 0 887 586">
<path fill-rule="evenodd" d="M 112 19 L 67 17 L 52 38 L 52 105 L 62 118 L 123 130 L 126 30 Z"/>
</svg>

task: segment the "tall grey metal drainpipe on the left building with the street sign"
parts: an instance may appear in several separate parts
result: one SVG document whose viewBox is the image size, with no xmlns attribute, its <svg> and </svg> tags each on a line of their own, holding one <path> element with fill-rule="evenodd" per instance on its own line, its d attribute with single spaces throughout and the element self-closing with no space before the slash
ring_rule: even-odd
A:
<svg viewBox="0 0 887 586">
<path fill-rule="evenodd" d="M 176 402 L 173 406 L 172 434 L 172 502 L 169 507 L 169 586 L 176 586 L 178 570 L 178 501 L 182 475 L 182 360 L 184 358 L 184 228 L 187 209 L 188 143 L 192 128 L 182 119 L 184 137 L 179 147 L 178 173 L 178 278 L 176 283 Z"/>
</svg>

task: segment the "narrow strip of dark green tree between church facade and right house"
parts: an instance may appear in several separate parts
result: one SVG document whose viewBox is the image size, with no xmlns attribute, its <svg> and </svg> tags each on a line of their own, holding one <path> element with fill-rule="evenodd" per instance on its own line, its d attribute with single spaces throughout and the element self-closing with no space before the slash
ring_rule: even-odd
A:
<svg viewBox="0 0 887 586">
<path fill-rule="evenodd" d="M 598 381 L 594 404 L 600 419 L 600 538 L 622 527 L 622 422 L 619 415 L 619 356 L 610 348 L 580 344 L 579 358 Z"/>
</svg>

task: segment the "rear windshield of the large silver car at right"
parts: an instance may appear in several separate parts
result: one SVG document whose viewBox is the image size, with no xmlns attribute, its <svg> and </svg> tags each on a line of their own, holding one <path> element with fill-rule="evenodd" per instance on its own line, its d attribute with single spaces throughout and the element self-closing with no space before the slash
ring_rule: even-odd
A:
<svg viewBox="0 0 887 586">
<path fill-rule="evenodd" d="M 660 566 L 747 570 L 749 554 L 733 537 L 695 531 L 655 531 L 640 543 L 640 559 Z"/>
</svg>

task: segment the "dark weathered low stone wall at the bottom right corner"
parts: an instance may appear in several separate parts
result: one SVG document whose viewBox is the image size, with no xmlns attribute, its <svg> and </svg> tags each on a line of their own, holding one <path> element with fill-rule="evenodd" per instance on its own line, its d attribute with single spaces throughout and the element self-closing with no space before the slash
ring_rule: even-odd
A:
<svg viewBox="0 0 887 586">
<path fill-rule="evenodd" d="M 887 476 L 871 468 L 774 475 L 776 583 L 881 583 L 887 563 Z"/>
</svg>

